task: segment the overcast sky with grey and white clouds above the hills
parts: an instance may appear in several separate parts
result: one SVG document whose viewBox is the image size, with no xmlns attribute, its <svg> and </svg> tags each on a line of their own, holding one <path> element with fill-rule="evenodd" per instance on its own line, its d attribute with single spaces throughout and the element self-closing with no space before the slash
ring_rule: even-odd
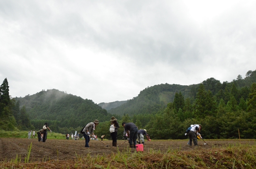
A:
<svg viewBox="0 0 256 169">
<path fill-rule="evenodd" d="M 256 70 L 255 0 L 0 0 L 0 84 L 94 103 Z"/>
</svg>

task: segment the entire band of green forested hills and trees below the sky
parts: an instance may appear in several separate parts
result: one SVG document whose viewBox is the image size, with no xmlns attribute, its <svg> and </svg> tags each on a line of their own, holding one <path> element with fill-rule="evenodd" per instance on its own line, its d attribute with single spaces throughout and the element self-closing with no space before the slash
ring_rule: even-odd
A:
<svg viewBox="0 0 256 169">
<path fill-rule="evenodd" d="M 110 119 L 119 125 L 133 122 L 146 129 L 151 139 L 185 139 L 191 124 L 201 124 L 206 139 L 256 138 L 256 70 L 232 82 L 214 78 L 194 85 L 160 84 L 147 87 L 137 97 L 108 111 L 92 100 L 61 92 L 42 90 L 12 98 L 7 78 L 0 86 L 0 130 L 39 130 L 47 122 L 56 133 L 74 133 L 98 119 L 98 136 L 110 139 Z M 239 132 L 238 132 L 239 130 Z M 123 127 L 118 139 L 123 137 Z"/>
</svg>

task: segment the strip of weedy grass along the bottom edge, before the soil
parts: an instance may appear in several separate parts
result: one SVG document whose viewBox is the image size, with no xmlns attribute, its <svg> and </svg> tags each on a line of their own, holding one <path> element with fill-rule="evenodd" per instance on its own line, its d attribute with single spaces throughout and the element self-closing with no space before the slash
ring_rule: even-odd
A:
<svg viewBox="0 0 256 169">
<path fill-rule="evenodd" d="M 118 148 L 118 147 L 117 147 Z M 28 147 L 28 153 L 31 145 Z M 27 157 L 29 159 L 29 156 Z M 51 160 L 44 157 L 42 162 L 22 163 L 20 157 L 1 162 L 0 168 L 27 169 L 254 169 L 256 168 L 256 145 L 229 145 L 228 147 L 188 151 L 167 150 L 160 152 L 130 152 L 130 148 L 111 155 L 79 157 L 74 160 Z"/>
</svg>

